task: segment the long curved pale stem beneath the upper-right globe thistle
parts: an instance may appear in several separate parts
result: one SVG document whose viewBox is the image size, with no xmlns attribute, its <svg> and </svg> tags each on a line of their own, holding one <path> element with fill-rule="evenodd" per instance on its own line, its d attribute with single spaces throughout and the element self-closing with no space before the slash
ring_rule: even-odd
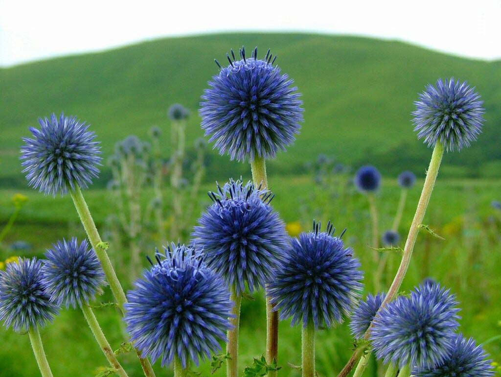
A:
<svg viewBox="0 0 501 377">
<path fill-rule="evenodd" d="M 391 283 L 390 289 L 386 294 L 385 299 L 383 300 L 381 310 L 386 304 L 392 301 L 400 289 L 400 285 L 407 273 L 407 269 L 409 268 L 409 264 L 412 257 L 412 252 L 414 250 L 414 245 L 416 244 L 417 234 L 419 233 L 419 226 L 421 225 L 424 215 L 426 213 L 426 208 L 428 207 L 428 203 L 430 201 L 431 193 L 433 192 L 433 187 L 435 186 L 435 181 L 438 175 L 438 169 L 440 168 L 440 163 L 442 162 L 443 157 L 443 145 L 440 142 L 435 144 L 433 148 L 433 153 L 431 154 L 430 164 L 428 166 L 428 170 L 426 172 L 426 179 L 424 180 L 423 190 L 421 191 L 421 197 L 419 198 L 419 202 L 417 204 L 416 213 L 414 215 L 414 219 L 412 220 L 412 224 L 409 228 L 409 235 L 407 236 L 407 241 L 405 242 L 404 252 L 402 254 L 402 260 L 400 262 L 400 266 L 398 267 L 398 271 Z M 372 326 L 372 324 L 371 324 Z M 365 332 L 364 338 L 368 339 L 370 334 L 371 326 Z M 355 365 L 358 357 L 357 357 L 358 347 L 355 349 L 354 354 L 345 365 L 345 367 L 338 374 L 338 377 L 346 377 L 350 370 Z"/>
</svg>

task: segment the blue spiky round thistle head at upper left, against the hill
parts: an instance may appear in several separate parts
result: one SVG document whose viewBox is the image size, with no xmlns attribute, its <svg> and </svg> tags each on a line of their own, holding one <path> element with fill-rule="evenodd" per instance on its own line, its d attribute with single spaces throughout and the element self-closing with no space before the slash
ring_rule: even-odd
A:
<svg viewBox="0 0 501 377">
<path fill-rule="evenodd" d="M 59 119 L 39 119 L 40 129 L 30 127 L 33 138 L 24 137 L 23 172 L 29 185 L 46 195 L 64 195 L 76 186 L 86 188 L 98 176 L 100 147 L 85 122 L 63 113 Z"/>
</svg>

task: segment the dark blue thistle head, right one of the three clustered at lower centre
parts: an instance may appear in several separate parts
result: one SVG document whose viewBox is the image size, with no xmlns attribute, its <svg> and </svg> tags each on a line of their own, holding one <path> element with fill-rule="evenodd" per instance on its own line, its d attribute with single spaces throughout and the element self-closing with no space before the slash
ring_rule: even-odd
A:
<svg viewBox="0 0 501 377">
<path fill-rule="evenodd" d="M 326 232 L 315 222 L 313 229 L 291 240 L 268 295 L 281 319 L 292 317 L 293 325 L 302 322 L 304 327 L 310 321 L 316 328 L 330 327 L 351 311 L 362 288 L 362 272 L 353 249 L 341 240 L 343 234 L 333 236 L 330 222 Z"/>
</svg>

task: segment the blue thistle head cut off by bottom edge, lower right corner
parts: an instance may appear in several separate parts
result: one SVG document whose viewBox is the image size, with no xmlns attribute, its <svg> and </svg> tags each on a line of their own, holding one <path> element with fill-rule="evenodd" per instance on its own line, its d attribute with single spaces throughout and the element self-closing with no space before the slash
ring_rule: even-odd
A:
<svg viewBox="0 0 501 377">
<path fill-rule="evenodd" d="M 455 334 L 447 356 L 439 364 L 427 368 L 414 368 L 415 377 L 490 377 L 494 375 L 491 361 L 482 347 L 472 338 Z"/>
</svg>

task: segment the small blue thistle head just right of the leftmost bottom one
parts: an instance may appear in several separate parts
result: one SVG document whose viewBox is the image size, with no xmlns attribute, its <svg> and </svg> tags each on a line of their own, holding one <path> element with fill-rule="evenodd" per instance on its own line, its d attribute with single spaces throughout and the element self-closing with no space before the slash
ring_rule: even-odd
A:
<svg viewBox="0 0 501 377">
<path fill-rule="evenodd" d="M 45 253 L 42 282 L 58 306 L 87 304 L 105 283 L 104 272 L 87 240 L 58 241 Z"/>
</svg>

